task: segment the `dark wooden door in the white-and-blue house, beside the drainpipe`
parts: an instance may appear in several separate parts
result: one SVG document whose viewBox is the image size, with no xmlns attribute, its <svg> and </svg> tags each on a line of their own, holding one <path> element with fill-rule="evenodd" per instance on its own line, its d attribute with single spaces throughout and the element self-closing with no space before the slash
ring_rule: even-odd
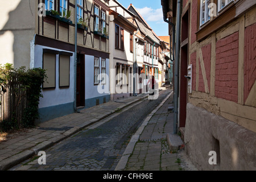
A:
<svg viewBox="0 0 256 182">
<path fill-rule="evenodd" d="M 77 53 L 76 106 L 85 106 L 85 63 L 84 55 Z"/>
</svg>

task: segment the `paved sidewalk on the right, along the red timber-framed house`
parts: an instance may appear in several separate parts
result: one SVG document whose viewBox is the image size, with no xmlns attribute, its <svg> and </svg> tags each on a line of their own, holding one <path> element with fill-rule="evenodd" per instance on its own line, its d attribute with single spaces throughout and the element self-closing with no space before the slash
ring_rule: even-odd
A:
<svg viewBox="0 0 256 182">
<path fill-rule="evenodd" d="M 170 151 L 166 139 L 167 133 L 173 131 L 174 113 L 167 110 L 172 100 L 173 97 L 169 97 L 152 115 L 135 144 L 125 170 L 174 171 L 183 169 L 180 167 L 177 151 Z"/>
</svg>

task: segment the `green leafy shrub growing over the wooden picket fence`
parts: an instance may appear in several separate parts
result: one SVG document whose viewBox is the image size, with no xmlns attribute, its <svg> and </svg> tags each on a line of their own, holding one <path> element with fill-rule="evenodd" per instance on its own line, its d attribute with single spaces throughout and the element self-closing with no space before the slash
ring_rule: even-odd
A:
<svg viewBox="0 0 256 182">
<path fill-rule="evenodd" d="M 1 94 L 4 97 L 10 97 L 7 100 L 10 102 L 9 108 L 4 110 L 11 112 L 7 114 L 9 117 L 1 122 L 1 130 L 34 126 L 34 121 L 39 116 L 39 100 L 43 97 L 41 91 L 44 78 L 46 78 L 46 71 L 42 68 L 26 70 L 25 67 L 14 69 L 9 63 L 3 67 L 0 65 Z M 5 94 L 7 90 L 9 94 Z M 1 105 L 1 107 L 4 106 Z M 21 113 L 22 117 L 17 113 Z"/>
</svg>

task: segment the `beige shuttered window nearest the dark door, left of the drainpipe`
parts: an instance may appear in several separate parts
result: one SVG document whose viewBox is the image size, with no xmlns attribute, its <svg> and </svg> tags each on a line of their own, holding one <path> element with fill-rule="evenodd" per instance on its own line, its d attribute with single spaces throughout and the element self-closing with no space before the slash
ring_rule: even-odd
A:
<svg viewBox="0 0 256 182">
<path fill-rule="evenodd" d="M 59 57 L 59 86 L 69 86 L 69 61 L 70 57 L 60 55 Z"/>
</svg>

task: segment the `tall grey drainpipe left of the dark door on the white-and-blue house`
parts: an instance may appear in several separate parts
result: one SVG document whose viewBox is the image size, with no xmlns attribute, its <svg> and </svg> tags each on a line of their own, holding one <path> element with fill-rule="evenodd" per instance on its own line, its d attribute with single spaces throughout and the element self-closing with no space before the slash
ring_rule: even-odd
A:
<svg viewBox="0 0 256 182">
<path fill-rule="evenodd" d="M 76 1 L 76 10 L 75 10 L 75 65 L 74 65 L 74 110 L 77 113 L 76 109 L 76 64 L 77 64 L 77 1 Z"/>
</svg>

